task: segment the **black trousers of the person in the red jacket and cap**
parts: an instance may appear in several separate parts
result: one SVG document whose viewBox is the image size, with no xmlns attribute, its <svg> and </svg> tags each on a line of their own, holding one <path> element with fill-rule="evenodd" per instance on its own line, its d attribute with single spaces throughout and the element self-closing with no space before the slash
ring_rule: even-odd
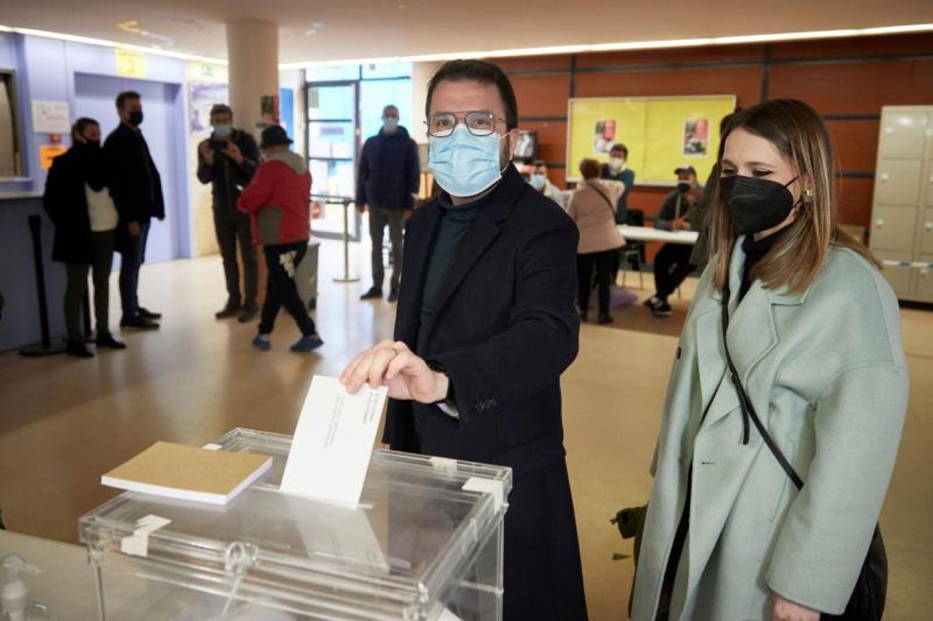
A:
<svg viewBox="0 0 933 621">
<path fill-rule="evenodd" d="M 295 266 L 301 262 L 307 251 L 308 242 L 274 243 L 263 248 L 269 280 L 266 286 L 266 301 L 262 305 L 259 334 L 272 332 L 275 316 L 283 306 L 298 324 L 302 335 L 307 337 L 317 332 L 295 285 Z"/>
</svg>

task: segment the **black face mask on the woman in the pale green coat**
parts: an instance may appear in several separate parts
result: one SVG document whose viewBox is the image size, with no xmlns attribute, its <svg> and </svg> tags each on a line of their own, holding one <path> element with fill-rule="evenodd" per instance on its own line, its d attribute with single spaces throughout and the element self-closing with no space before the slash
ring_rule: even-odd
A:
<svg viewBox="0 0 933 621">
<path fill-rule="evenodd" d="M 796 203 L 787 184 L 776 181 L 731 174 L 722 177 L 722 198 L 729 208 L 732 222 L 740 235 L 760 233 L 787 220 Z"/>
</svg>

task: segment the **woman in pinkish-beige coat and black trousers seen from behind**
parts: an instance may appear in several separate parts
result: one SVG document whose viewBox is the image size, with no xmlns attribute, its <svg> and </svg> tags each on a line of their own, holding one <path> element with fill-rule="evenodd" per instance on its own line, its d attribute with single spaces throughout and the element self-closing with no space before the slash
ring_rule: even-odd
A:
<svg viewBox="0 0 933 621">
<path fill-rule="evenodd" d="M 574 192 L 567 214 L 577 223 L 580 241 L 577 248 L 578 302 L 580 316 L 586 321 L 590 309 L 592 272 L 596 270 L 599 299 L 599 323 L 611 324 L 609 314 L 609 281 L 616 267 L 616 255 L 624 242 L 616 228 L 616 205 L 625 191 L 620 181 L 600 179 L 599 162 L 580 162 L 583 181 Z"/>
</svg>

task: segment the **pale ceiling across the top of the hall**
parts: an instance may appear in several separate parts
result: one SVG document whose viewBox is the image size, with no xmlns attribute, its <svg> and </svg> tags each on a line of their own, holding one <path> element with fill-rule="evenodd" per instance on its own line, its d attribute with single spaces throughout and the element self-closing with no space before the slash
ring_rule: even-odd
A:
<svg viewBox="0 0 933 621">
<path fill-rule="evenodd" d="M 224 23 L 281 28 L 280 62 L 871 28 L 933 0 L 0 0 L 0 24 L 226 58 Z M 128 33 L 136 20 L 152 35 Z M 306 34 L 321 24 L 316 34 Z M 933 36 L 933 34 L 931 34 Z M 174 42 L 164 46 L 165 37 Z"/>
</svg>

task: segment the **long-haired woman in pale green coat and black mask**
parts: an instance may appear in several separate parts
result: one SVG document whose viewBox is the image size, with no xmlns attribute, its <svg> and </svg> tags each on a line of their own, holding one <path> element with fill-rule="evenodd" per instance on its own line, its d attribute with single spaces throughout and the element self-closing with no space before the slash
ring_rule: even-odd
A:
<svg viewBox="0 0 933 621">
<path fill-rule="evenodd" d="M 716 254 L 676 349 L 652 466 L 638 621 L 815 621 L 852 594 L 908 376 L 897 299 L 836 227 L 832 161 L 823 121 L 798 101 L 744 110 L 724 135 Z M 740 407 L 727 344 L 752 408 Z"/>
</svg>

